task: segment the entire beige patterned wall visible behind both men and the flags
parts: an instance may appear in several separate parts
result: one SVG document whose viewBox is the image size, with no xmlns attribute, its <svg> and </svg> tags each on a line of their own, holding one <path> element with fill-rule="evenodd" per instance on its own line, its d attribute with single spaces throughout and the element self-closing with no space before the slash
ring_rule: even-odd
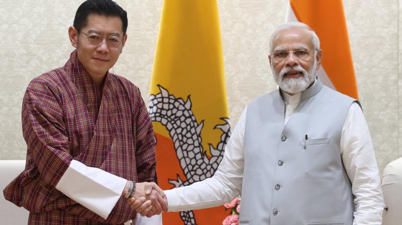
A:
<svg viewBox="0 0 402 225">
<path fill-rule="evenodd" d="M 21 131 L 24 91 L 35 76 L 67 60 L 73 50 L 67 28 L 81 2 L 0 2 L 0 159 L 25 158 Z M 162 0 L 117 2 L 128 11 L 129 37 L 112 72 L 137 84 L 147 101 Z M 402 140 L 396 104 L 398 81 L 402 85 L 397 75 L 398 2 L 360 0 L 344 1 L 344 5 L 360 100 L 382 170 L 397 158 L 398 138 Z M 268 42 L 273 29 L 284 22 L 287 1 L 218 0 L 218 7 L 234 126 L 249 101 L 276 88 L 267 59 Z"/>
</svg>

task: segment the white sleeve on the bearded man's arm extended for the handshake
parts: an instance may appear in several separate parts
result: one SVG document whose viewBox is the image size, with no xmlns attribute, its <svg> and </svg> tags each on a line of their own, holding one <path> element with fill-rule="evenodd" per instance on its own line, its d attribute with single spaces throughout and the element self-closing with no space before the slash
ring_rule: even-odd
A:
<svg viewBox="0 0 402 225">
<path fill-rule="evenodd" d="M 166 190 L 168 211 L 209 208 L 231 201 L 241 193 L 244 170 L 244 128 L 247 107 L 230 136 L 214 176 L 189 186 Z"/>
</svg>

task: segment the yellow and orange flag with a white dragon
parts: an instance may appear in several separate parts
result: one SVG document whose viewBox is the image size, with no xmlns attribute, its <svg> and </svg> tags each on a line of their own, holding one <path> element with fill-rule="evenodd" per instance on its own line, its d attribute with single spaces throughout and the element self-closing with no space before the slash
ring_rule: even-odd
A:
<svg viewBox="0 0 402 225">
<path fill-rule="evenodd" d="M 148 111 L 163 189 L 211 177 L 230 136 L 216 0 L 164 0 Z M 221 224 L 223 206 L 163 213 L 164 224 Z"/>
</svg>

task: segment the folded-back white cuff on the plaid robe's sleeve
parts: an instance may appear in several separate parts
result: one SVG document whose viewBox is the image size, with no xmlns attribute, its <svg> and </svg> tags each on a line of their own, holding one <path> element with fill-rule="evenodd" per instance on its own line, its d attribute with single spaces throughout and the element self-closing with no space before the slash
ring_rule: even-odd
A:
<svg viewBox="0 0 402 225">
<path fill-rule="evenodd" d="M 108 218 L 127 180 L 72 160 L 56 189 L 84 207 Z"/>
</svg>

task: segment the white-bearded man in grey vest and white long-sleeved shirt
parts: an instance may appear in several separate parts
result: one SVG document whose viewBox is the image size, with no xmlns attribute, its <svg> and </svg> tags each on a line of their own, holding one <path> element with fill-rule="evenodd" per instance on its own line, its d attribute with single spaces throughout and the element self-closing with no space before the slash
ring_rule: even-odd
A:
<svg viewBox="0 0 402 225">
<path fill-rule="evenodd" d="M 269 61 L 279 90 L 246 106 L 212 178 L 165 191 L 169 211 L 241 194 L 240 224 L 381 224 L 367 123 L 356 99 L 317 79 L 322 55 L 307 25 L 274 31 Z"/>
</svg>

